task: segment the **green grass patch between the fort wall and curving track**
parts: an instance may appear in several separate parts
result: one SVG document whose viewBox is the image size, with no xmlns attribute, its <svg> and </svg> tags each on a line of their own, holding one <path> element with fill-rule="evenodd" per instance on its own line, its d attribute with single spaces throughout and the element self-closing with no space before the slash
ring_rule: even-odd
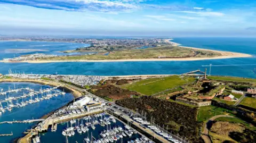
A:
<svg viewBox="0 0 256 143">
<path fill-rule="evenodd" d="M 234 116 L 234 114 L 231 111 L 226 110 L 225 108 L 220 108 L 213 105 L 203 106 L 203 107 L 199 107 L 197 120 L 205 122 L 215 115 L 224 115 L 227 113 L 229 115 Z"/>
</svg>

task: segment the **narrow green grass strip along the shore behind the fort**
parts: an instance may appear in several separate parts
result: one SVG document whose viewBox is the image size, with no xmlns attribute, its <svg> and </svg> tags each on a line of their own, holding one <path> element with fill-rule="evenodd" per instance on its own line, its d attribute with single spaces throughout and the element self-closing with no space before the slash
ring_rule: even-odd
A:
<svg viewBox="0 0 256 143">
<path fill-rule="evenodd" d="M 207 77 L 207 79 L 256 83 L 256 79 L 237 78 L 237 77 L 214 77 L 214 76 L 210 76 L 210 77 Z"/>
</svg>

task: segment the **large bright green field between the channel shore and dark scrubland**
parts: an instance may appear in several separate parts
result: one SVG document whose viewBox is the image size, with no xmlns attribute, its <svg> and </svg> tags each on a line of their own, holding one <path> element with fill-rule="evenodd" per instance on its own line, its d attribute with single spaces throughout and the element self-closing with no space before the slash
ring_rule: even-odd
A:
<svg viewBox="0 0 256 143">
<path fill-rule="evenodd" d="M 180 78 L 178 75 L 164 78 L 151 78 L 145 79 L 138 82 L 134 82 L 131 85 L 127 85 L 124 88 L 140 92 L 145 95 L 153 95 L 167 89 L 185 85 L 186 83 L 195 81 L 193 77 Z M 177 88 L 177 91 L 180 88 Z"/>
</svg>

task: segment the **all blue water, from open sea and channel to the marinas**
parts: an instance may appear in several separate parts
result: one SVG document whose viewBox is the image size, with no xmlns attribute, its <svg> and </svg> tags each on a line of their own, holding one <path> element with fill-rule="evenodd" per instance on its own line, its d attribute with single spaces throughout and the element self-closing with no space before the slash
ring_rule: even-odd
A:
<svg viewBox="0 0 256 143">
<path fill-rule="evenodd" d="M 7 74 L 11 69 L 13 72 L 25 72 L 35 74 L 79 74 L 79 75 L 145 75 L 145 74 L 181 74 L 193 70 L 209 71 L 211 67 L 212 75 L 228 75 L 244 78 L 256 78 L 256 38 L 173 38 L 175 43 L 182 46 L 215 49 L 220 51 L 230 51 L 251 54 L 253 57 L 227 58 L 219 60 L 202 61 L 151 61 L 151 62 L 58 62 L 58 63 L 1 63 L 0 73 Z M 79 43 L 54 43 L 42 41 L 0 41 L 0 58 L 8 58 L 33 53 L 57 54 L 60 51 L 76 49 L 78 47 L 89 46 L 89 44 Z M 14 50 L 13 50 L 14 49 Z M 35 51 L 22 51 L 15 49 L 34 49 Z M 42 51 L 43 50 L 43 51 Z M 81 54 L 81 53 L 73 53 Z M 84 53 L 86 54 L 86 53 Z M 13 88 L 13 82 L 2 82 L 0 87 L 7 90 Z M 30 87 L 39 90 L 40 87 L 48 88 L 35 83 L 15 83 L 15 87 Z M 22 93 L 15 93 L 10 96 L 19 96 Z M 0 96 L 0 99 L 4 99 Z M 63 97 L 53 97 L 50 100 L 30 104 L 23 108 L 14 109 L 12 112 L 5 112 L 0 116 L 0 122 L 13 120 L 38 119 L 39 117 L 67 104 L 74 97 L 66 94 Z M 53 106 L 54 105 L 54 106 Z M 15 138 L 21 137 L 22 132 L 30 129 L 31 124 L 0 124 L 1 133 L 11 133 L 13 136 L 0 137 L 0 142 L 13 142 Z M 117 122 L 115 125 L 122 125 Z M 41 134 L 42 142 L 65 142 L 65 137 L 61 135 L 62 129 L 66 128 L 66 123 L 59 124 L 57 132 L 47 132 Z M 97 127 L 96 134 L 101 127 Z M 58 138 L 57 138 L 58 137 Z M 69 142 L 81 142 L 86 134 L 76 134 L 70 137 Z"/>
</svg>

